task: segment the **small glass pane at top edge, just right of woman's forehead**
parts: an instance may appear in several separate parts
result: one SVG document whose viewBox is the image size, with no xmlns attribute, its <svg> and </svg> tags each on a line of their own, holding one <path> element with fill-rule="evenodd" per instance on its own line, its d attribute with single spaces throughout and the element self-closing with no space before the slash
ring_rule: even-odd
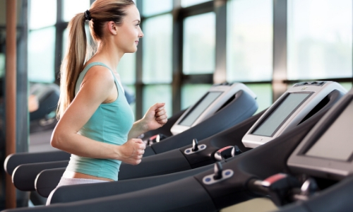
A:
<svg viewBox="0 0 353 212">
<path fill-rule="evenodd" d="M 143 16 L 172 11 L 173 0 L 143 0 Z"/>
</svg>

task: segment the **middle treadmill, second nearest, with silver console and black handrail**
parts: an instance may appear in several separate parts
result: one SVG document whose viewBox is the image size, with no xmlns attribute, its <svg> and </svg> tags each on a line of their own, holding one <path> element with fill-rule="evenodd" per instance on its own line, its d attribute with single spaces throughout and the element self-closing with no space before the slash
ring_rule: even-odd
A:
<svg viewBox="0 0 353 212">
<path fill-rule="evenodd" d="M 335 87 L 337 86 L 337 83 L 331 83 L 331 86 L 332 85 L 333 87 Z M 294 113 L 293 111 L 288 112 L 288 114 L 291 114 L 291 116 L 289 116 L 287 120 L 297 120 L 295 122 L 301 123 L 301 122 L 304 122 L 306 119 L 310 119 L 310 116 L 312 116 L 313 114 L 320 112 L 321 110 L 325 110 L 328 107 L 331 107 L 345 93 L 345 90 L 342 90 L 340 86 L 337 86 L 337 89 L 338 90 L 334 88 L 330 88 L 329 90 L 326 90 L 326 88 L 323 88 L 322 90 L 324 90 L 326 94 L 327 93 L 329 94 L 326 95 L 324 98 L 323 97 L 318 98 L 319 95 L 316 95 L 316 98 L 318 98 L 318 100 L 316 98 L 306 98 L 304 102 L 301 102 L 301 105 L 309 105 L 306 107 L 311 107 L 311 110 L 307 110 L 306 107 L 297 107 L 297 113 Z M 294 89 L 289 88 L 289 90 L 287 90 L 287 92 L 284 93 L 282 96 L 286 97 L 288 95 L 295 95 L 296 93 L 294 93 L 294 90 L 298 90 L 296 85 L 294 85 Z M 320 90 L 320 92 L 317 91 L 317 93 L 323 92 L 322 90 Z M 282 102 L 282 101 L 280 100 L 279 102 Z M 316 102 L 316 103 L 312 104 L 312 102 Z M 138 177 L 165 175 L 170 173 L 171 172 L 170 170 L 172 170 L 173 172 L 177 172 L 182 168 L 186 170 L 187 169 L 186 167 L 188 165 L 191 166 L 192 169 L 197 170 L 198 167 L 215 163 L 217 160 L 224 160 L 227 158 L 231 158 L 234 155 L 239 155 L 241 152 L 249 151 L 251 148 L 246 148 L 243 145 L 244 141 L 243 143 L 241 142 L 241 138 L 244 136 L 244 133 L 246 131 L 249 131 L 250 126 L 252 127 L 255 126 L 254 122 L 256 123 L 266 122 L 267 119 L 270 119 L 270 117 L 275 116 L 276 110 L 273 110 L 273 108 L 276 108 L 276 109 L 280 108 L 282 107 L 281 105 L 285 105 L 285 104 L 278 104 L 275 102 L 268 110 L 266 110 L 266 112 L 261 112 L 261 114 L 256 115 L 256 116 L 261 116 L 260 119 L 258 119 L 258 117 L 256 116 L 255 116 L 256 119 L 253 119 L 253 117 L 251 117 L 250 119 L 247 120 L 248 122 L 242 122 L 241 124 L 236 125 L 231 129 L 228 129 L 227 131 L 223 131 L 220 134 L 216 134 L 215 136 L 211 136 L 208 139 L 204 139 L 203 141 L 200 141 L 198 145 L 196 145 L 196 143 L 193 143 L 192 146 L 186 146 L 184 148 L 180 148 L 179 151 L 178 150 L 169 151 L 167 152 L 169 153 L 167 155 L 160 154 L 158 155 L 160 158 L 157 158 L 157 155 L 146 158 L 147 162 L 144 162 L 143 165 L 140 167 L 128 166 L 132 168 L 129 170 L 124 170 L 125 174 L 122 175 L 122 177 L 119 176 L 120 180 L 121 178 L 124 179 L 123 182 L 121 182 L 120 184 L 124 184 L 126 179 L 137 178 L 137 177 L 131 177 L 131 175 L 135 175 L 135 176 L 137 175 Z M 273 113 L 269 115 L 268 111 L 272 111 Z M 280 110 L 277 110 L 277 111 L 280 111 Z M 266 113 L 268 115 L 265 115 Z M 299 116 L 298 114 L 301 115 L 301 119 L 296 119 L 293 117 L 293 116 Z M 308 116 L 308 114 L 310 114 L 310 116 Z M 261 121 L 261 119 L 263 120 Z M 273 124 L 273 123 L 269 123 L 269 124 Z M 285 124 L 286 123 L 284 122 L 284 124 L 282 125 L 285 125 Z M 292 124 L 289 121 L 289 123 L 287 123 L 286 126 L 287 126 L 287 129 L 283 129 L 282 131 L 287 131 L 288 128 L 291 129 L 296 125 Z M 278 135 L 279 134 L 277 134 L 277 136 Z M 193 149 L 195 148 L 198 148 L 198 150 L 193 151 Z M 179 157 L 177 156 L 177 153 L 179 154 Z M 180 155 L 183 155 L 183 157 L 181 157 Z M 188 160 L 189 163 L 185 164 L 184 162 L 185 158 L 186 160 Z M 176 163 L 176 161 L 178 161 L 178 163 Z M 185 167 L 183 167 L 183 165 Z M 49 192 L 56 187 L 56 184 L 57 182 L 59 182 L 59 179 L 63 172 L 64 170 L 59 170 L 59 169 L 44 170 L 43 172 L 40 173 L 40 175 L 37 175 L 37 180 L 35 182 L 37 192 L 47 197 L 49 195 Z M 191 173 L 191 172 L 187 172 L 187 173 Z M 116 182 L 114 182 L 114 184 L 115 183 Z M 114 187 L 113 184 L 110 184 L 110 185 L 112 188 Z M 119 187 L 119 182 L 117 182 L 116 185 Z M 90 186 L 88 185 L 85 188 L 87 189 L 88 187 Z M 121 191 L 121 187 L 119 187 L 119 189 L 118 187 L 116 187 L 115 190 Z M 103 189 L 103 190 L 105 191 L 106 189 Z M 71 192 L 73 192 L 72 189 L 71 189 Z M 100 192 L 95 193 L 95 196 L 100 196 L 99 193 Z M 106 194 L 107 193 L 102 195 L 104 196 Z M 109 193 L 109 194 L 114 194 L 114 189 L 112 193 Z M 61 194 L 54 194 L 54 196 L 60 196 L 60 195 Z M 89 198 L 88 196 L 86 197 Z M 61 201 L 61 200 L 57 200 L 57 201 Z"/>
</svg>

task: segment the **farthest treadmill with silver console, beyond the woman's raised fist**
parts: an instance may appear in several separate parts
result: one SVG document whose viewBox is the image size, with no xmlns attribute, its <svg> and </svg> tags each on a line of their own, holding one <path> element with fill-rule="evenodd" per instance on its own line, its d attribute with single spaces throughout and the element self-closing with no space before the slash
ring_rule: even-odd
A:
<svg viewBox="0 0 353 212">
<path fill-rule="evenodd" d="M 212 93 L 216 93 L 217 95 L 211 95 L 212 99 L 208 98 Z M 210 110 L 210 107 L 212 107 L 213 110 Z M 244 86 L 244 84 L 222 83 L 215 85 L 213 88 L 210 88 L 209 92 L 193 105 L 193 107 L 181 114 L 181 121 L 188 117 L 193 117 L 194 122 L 198 122 L 198 124 L 195 126 L 191 125 L 186 131 L 170 136 L 162 142 L 153 143 L 151 146 L 147 146 L 144 156 L 155 155 L 156 152 L 164 153 L 165 151 L 174 148 L 186 146 L 191 143 L 192 139 L 204 139 L 213 134 L 217 134 L 218 132 L 229 128 L 229 126 L 239 124 L 245 119 L 251 117 L 257 109 L 256 95 L 249 88 Z M 202 119 L 205 120 L 201 122 L 202 119 L 200 117 L 203 117 Z M 227 117 L 227 119 L 225 117 Z M 178 124 L 177 121 L 174 122 L 174 125 L 175 123 Z M 188 123 L 191 123 L 190 119 Z M 214 126 L 214 123 L 218 124 Z M 158 147 L 157 151 L 153 146 Z M 13 182 L 18 189 L 23 191 L 34 191 L 35 177 L 39 172 L 49 168 L 66 167 L 68 164 L 68 153 L 53 153 L 53 155 L 60 156 L 57 157 L 59 160 L 40 163 L 43 154 L 49 158 L 53 158 L 51 155 L 52 153 L 22 153 L 21 155 L 14 154 L 6 158 L 5 167 L 9 167 L 8 164 L 12 164 L 11 167 L 15 167 L 23 161 L 23 158 L 30 158 L 30 160 L 25 160 L 25 163 L 28 163 L 29 161 L 32 162 L 32 164 L 16 166 L 16 172 L 13 172 Z M 68 158 L 66 160 L 62 159 L 65 157 Z M 14 158 L 16 158 L 16 160 L 13 160 Z M 13 161 L 14 163 L 10 163 Z M 47 161 L 46 158 L 44 161 Z M 28 172 L 28 170 L 30 172 Z"/>
</svg>

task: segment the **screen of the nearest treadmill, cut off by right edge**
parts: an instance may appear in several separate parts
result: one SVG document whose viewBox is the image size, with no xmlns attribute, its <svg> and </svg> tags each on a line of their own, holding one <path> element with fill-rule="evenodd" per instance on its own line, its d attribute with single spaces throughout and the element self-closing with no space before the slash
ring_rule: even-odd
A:
<svg viewBox="0 0 353 212">
<path fill-rule="evenodd" d="M 311 146 L 306 155 L 335 160 L 349 160 L 353 153 L 353 101 Z"/>
</svg>

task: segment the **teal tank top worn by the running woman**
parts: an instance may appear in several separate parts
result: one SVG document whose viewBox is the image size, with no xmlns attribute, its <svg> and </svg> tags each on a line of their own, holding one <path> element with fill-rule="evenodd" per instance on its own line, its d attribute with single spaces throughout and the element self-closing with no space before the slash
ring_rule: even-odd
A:
<svg viewBox="0 0 353 212">
<path fill-rule="evenodd" d="M 80 84 L 85 74 L 92 66 L 108 66 L 93 62 L 83 69 L 76 82 L 75 95 L 80 90 Z M 110 69 L 109 69 L 110 70 Z M 112 71 L 112 70 L 110 70 Z M 112 71 L 114 76 L 114 73 Z M 133 112 L 124 95 L 124 90 L 114 76 L 114 82 L 118 90 L 118 98 L 114 102 L 102 103 L 88 122 L 78 131 L 78 134 L 95 141 L 122 145 L 128 139 L 128 132 L 133 125 Z M 66 170 L 80 172 L 95 177 L 105 177 L 118 180 L 121 161 L 110 159 L 85 158 L 71 154 L 70 162 Z"/>
</svg>

